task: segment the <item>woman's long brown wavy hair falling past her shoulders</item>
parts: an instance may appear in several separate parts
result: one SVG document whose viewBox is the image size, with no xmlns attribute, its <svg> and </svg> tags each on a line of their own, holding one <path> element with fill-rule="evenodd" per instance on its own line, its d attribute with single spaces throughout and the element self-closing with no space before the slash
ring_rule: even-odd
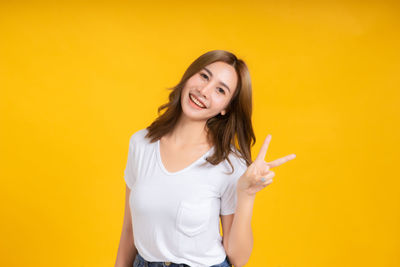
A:
<svg viewBox="0 0 400 267">
<path fill-rule="evenodd" d="M 174 87 L 167 88 L 172 90 L 169 94 L 169 102 L 158 108 L 158 114 L 163 109 L 166 111 L 147 127 L 146 137 L 150 142 L 155 142 L 165 134 L 172 131 L 177 123 L 181 113 L 181 93 L 186 81 L 198 73 L 203 67 L 216 62 L 225 62 L 236 70 L 238 76 L 237 87 L 227 108 L 226 114 L 220 113 L 206 122 L 207 137 L 214 146 L 214 154 L 207 157 L 207 161 L 217 165 L 223 160 L 227 160 L 234 171 L 233 165 L 228 158 L 230 152 L 233 152 L 246 161 L 249 166 L 252 163 L 251 146 L 254 145 L 256 137 L 251 123 L 252 115 L 252 86 L 249 70 L 243 60 L 238 59 L 233 53 L 225 50 L 209 51 L 190 64 L 181 81 Z M 217 140 L 217 142 L 214 142 Z M 232 150 L 232 147 L 235 150 Z"/>
</svg>

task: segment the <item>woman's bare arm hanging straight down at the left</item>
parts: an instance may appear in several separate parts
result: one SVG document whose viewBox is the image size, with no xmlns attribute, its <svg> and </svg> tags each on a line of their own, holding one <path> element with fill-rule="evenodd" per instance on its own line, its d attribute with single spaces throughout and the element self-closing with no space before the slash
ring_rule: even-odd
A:
<svg viewBox="0 0 400 267">
<path fill-rule="evenodd" d="M 131 190 L 127 185 L 125 186 L 125 215 L 115 267 L 132 267 L 137 254 L 137 249 L 133 241 L 132 217 L 129 208 L 129 195 Z"/>
</svg>

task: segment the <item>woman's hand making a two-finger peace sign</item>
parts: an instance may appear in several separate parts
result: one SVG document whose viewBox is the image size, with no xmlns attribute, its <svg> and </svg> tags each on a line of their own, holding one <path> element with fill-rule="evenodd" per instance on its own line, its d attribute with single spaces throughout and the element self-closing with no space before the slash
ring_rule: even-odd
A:
<svg viewBox="0 0 400 267">
<path fill-rule="evenodd" d="M 277 167 L 289 160 L 296 158 L 295 154 L 290 154 L 268 163 L 265 162 L 264 158 L 267 154 L 270 141 L 271 135 L 269 134 L 265 138 L 256 160 L 250 164 L 242 177 L 240 177 L 237 183 L 237 190 L 239 192 L 245 192 L 250 196 L 254 196 L 258 191 L 272 183 L 272 177 L 275 176 L 275 173 L 270 171 L 270 168 Z"/>
</svg>

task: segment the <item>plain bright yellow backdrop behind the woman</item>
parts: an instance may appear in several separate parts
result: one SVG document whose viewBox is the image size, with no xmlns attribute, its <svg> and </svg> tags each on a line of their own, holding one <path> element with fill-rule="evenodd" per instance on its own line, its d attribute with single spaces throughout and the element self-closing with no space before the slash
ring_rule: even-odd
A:
<svg viewBox="0 0 400 267">
<path fill-rule="evenodd" d="M 246 266 L 400 266 L 395 1 L 0 3 L 0 265 L 113 266 L 129 137 L 189 64 L 245 60 L 266 161 Z"/>
</svg>

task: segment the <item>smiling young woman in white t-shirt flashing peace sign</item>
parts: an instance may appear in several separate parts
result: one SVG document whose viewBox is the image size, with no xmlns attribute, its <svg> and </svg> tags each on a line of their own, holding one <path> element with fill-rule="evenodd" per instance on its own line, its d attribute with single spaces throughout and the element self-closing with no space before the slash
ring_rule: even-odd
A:
<svg viewBox="0 0 400 267">
<path fill-rule="evenodd" d="M 266 163 L 268 135 L 251 160 L 251 81 L 234 54 L 201 55 L 171 90 L 165 112 L 130 138 L 115 266 L 243 266 L 255 194 L 295 155 Z"/>
</svg>

